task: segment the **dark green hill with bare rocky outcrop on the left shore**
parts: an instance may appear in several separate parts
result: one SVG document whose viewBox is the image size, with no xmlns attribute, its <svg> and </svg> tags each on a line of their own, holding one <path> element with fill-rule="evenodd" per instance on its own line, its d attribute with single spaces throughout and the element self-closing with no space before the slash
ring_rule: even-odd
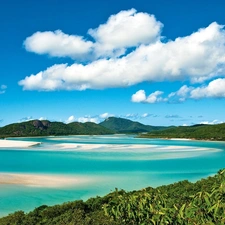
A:
<svg viewBox="0 0 225 225">
<path fill-rule="evenodd" d="M 113 131 L 91 122 L 65 124 L 62 122 L 50 122 L 48 120 L 31 120 L 0 128 L 0 137 L 97 134 L 113 134 Z"/>
</svg>

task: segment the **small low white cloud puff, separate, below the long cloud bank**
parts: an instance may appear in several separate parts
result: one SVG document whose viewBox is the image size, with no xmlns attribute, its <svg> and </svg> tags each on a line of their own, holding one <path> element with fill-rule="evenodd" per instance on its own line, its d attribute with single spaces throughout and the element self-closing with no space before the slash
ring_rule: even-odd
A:
<svg viewBox="0 0 225 225">
<path fill-rule="evenodd" d="M 157 103 L 157 102 L 165 102 L 167 99 L 161 97 L 163 94 L 162 91 L 155 91 L 151 93 L 149 96 L 146 96 L 144 90 L 139 90 L 135 94 L 132 95 L 132 102 L 142 102 L 142 103 Z"/>
</svg>

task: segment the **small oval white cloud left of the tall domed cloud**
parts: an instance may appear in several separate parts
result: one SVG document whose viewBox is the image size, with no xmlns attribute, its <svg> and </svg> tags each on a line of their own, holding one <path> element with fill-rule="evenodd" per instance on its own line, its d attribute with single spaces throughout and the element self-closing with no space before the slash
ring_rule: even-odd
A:
<svg viewBox="0 0 225 225">
<path fill-rule="evenodd" d="M 83 58 L 91 51 L 93 43 L 60 30 L 36 32 L 24 41 L 27 51 L 57 57 Z"/>
</svg>

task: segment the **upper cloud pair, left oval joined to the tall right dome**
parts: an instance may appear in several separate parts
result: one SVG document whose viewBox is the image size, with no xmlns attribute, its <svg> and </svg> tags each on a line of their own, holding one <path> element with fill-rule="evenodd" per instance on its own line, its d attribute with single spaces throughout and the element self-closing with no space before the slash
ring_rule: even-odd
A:
<svg viewBox="0 0 225 225">
<path fill-rule="evenodd" d="M 149 44 L 160 38 L 162 24 L 153 15 L 137 13 L 135 9 L 121 11 L 109 17 L 105 24 L 89 29 L 95 42 L 82 36 L 68 35 L 61 30 L 36 32 L 24 41 L 27 51 L 56 57 L 86 58 L 120 56 L 126 48 Z"/>
</svg>

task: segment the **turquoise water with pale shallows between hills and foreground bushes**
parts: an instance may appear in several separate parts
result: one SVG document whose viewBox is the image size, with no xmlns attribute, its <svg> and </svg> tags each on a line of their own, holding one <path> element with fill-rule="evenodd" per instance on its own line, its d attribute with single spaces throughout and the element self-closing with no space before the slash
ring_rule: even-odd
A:
<svg viewBox="0 0 225 225">
<path fill-rule="evenodd" d="M 225 143 L 139 139 L 128 135 L 14 138 L 26 149 L 0 148 L 0 173 L 84 177 L 65 187 L 0 185 L 0 216 L 47 204 L 197 179 L 225 168 Z"/>
</svg>

